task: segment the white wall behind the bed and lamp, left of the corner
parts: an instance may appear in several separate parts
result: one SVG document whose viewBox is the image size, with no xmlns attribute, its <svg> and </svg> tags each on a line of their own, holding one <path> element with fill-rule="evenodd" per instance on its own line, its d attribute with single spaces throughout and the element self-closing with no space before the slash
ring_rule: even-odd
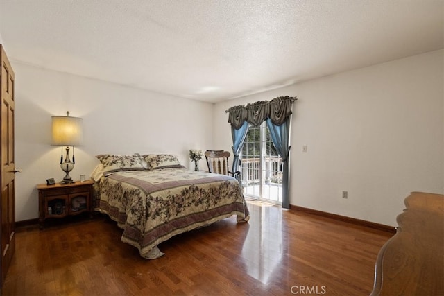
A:
<svg viewBox="0 0 444 296">
<path fill-rule="evenodd" d="M 60 147 L 51 146 L 51 116 L 82 117 L 84 145 L 70 173 L 92 172 L 101 153 L 171 153 L 191 168 L 189 149 L 212 146 L 212 104 L 146 92 L 12 62 L 15 70 L 16 221 L 38 217 L 36 184 L 59 182 Z M 169 114 L 165 112 L 169 111 Z M 205 168 L 205 162 L 200 162 Z"/>
</svg>

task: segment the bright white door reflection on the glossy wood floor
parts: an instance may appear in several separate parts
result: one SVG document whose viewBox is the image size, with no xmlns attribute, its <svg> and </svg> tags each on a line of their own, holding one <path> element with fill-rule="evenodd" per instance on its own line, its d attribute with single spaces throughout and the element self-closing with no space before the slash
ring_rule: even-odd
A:
<svg viewBox="0 0 444 296">
<path fill-rule="evenodd" d="M 248 275 L 267 284 L 284 252 L 282 209 L 265 202 L 248 201 L 250 225 L 242 256 Z"/>
</svg>

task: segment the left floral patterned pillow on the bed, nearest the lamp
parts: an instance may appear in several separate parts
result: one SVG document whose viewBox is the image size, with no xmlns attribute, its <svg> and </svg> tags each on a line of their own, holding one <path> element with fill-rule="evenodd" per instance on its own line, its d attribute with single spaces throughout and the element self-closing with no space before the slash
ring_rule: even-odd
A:
<svg viewBox="0 0 444 296">
<path fill-rule="evenodd" d="M 101 154 L 96 157 L 103 164 L 103 173 L 140 171 L 148 168 L 145 159 L 139 153 L 133 155 Z"/>
</svg>

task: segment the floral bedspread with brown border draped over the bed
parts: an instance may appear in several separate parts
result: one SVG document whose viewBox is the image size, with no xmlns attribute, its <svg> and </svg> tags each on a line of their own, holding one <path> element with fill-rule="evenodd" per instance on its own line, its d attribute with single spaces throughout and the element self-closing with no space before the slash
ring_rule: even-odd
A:
<svg viewBox="0 0 444 296">
<path fill-rule="evenodd" d="M 123 229 L 121 241 L 147 259 L 162 256 L 157 245 L 176 234 L 232 215 L 249 218 L 237 180 L 185 168 L 114 173 L 101 178 L 99 196 L 99 210 Z"/>
</svg>

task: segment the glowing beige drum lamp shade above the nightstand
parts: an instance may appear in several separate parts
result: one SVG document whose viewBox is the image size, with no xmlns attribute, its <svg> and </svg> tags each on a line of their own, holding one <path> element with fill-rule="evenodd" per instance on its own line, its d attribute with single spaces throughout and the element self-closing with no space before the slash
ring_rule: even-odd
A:
<svg viewBox="0 0 444 296">
<path fill-rule="evenodd" d="M 83 143 L 83 119 L 52 116 L 53 139 L 51 145 L 78 146 Z"/>
</svg>

